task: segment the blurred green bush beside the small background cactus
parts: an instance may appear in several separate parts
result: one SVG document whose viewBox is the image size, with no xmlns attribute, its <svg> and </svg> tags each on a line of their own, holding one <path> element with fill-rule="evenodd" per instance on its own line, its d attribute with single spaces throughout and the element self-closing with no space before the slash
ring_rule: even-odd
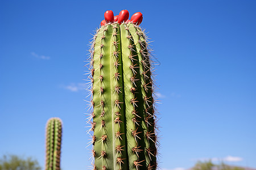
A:
<svg viewBox="0 0 256 170">
<path fill-rule="evenodd" d="M 0 158 L 0 170 L 41 170 L 38 161 L 31 157 L 3 155 Z"/>
</svg>

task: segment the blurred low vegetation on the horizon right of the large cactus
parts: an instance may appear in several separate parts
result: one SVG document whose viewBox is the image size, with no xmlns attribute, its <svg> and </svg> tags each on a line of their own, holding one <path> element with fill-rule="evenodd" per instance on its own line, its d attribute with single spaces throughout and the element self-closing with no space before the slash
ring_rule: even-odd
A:
<svg viewBox="0 0 256 170">
<path fill-rule="evenodd" d="M 197 162 L 196 165 L 192 168 L 192 170 L 245 170 L 241 167 L 233 167 L 227 165 L 225 163 L 221 164 L 213 164 L 211 160 L 206 162 Z"/>
</svg>

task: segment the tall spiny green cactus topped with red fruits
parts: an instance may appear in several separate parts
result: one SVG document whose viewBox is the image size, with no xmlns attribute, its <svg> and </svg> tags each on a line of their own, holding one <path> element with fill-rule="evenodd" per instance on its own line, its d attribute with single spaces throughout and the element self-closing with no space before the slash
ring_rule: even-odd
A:
<svg viewBox="0 0 256 170">
<path fill-rule="evenodd" d="M 142 14 L 104 16 L 89 50 L 93 169 L 156 169 L 152 64 L 139 27 Z"/>
</svg>

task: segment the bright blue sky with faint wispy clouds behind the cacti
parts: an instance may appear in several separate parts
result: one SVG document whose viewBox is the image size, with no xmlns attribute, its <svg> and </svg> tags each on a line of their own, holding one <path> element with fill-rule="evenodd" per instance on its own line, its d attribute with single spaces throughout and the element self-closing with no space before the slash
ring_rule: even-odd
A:
<svg viewBox="0 0 256 170">
<path fill-rule="evenodd" d="M 61 167 L 88 169 L 90 33 L 141 11 L 158 58 L 160 167 L 256 168 L 256 1 L 0 1 L 0 155 L 44 165 L 45 125 L 63 120 Z"/>
</svg>

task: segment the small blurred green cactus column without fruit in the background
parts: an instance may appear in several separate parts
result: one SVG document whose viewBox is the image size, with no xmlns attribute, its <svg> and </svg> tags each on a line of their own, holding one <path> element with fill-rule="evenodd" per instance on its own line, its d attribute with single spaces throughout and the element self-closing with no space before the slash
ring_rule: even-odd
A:
<svg viewBox="0 0 256 170">
<path fill-rule="evenodd" d="M 50 118 L 46 125 L 46 170 L 60 169 L 61 133 L 60 118 Z"/>
</svg>

